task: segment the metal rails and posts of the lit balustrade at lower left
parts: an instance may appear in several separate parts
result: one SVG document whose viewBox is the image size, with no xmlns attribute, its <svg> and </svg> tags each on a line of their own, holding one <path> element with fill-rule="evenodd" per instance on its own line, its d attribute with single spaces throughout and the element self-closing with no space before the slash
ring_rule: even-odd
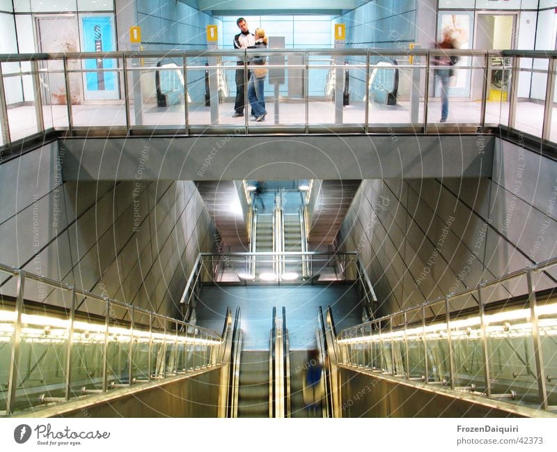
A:
<svg viewBox="0 0 557 452">
<path fill-rule="evenodd" d="M 13 311 L 6 311 L 8 314 L 13 313 L 13 318 L 6 317 L 3 323 L 8 325 L 13 325 L 13 335 L 11 338 L 11 352 L 10 352 L 10 368 L 8 371 L 8 391 L 6 391 L 6 410 L 0 414 L 12 414 L 15 410 L 15 404 L 17 401 L 17 392 L 25 391 L 26 400 L 33 406 L 34 403 L 46 403 L 46 402 L 65 402 L 74 398 L 76 396 L 86 395 L 88 393 L 106 393 L 109 389 L 114 387 L 131 387 L 135 382 L 141 382 L 143 380 L 136 377 L 136 366 L 134 365 L 134 349 L 136 337 L 143 337 L 148 339 L 148 371 L 146 374 L 147 380 L 151 381 L 154 379 L 165 378 L 169 375 L 178 375 L 179 373 L 185 373 L 189 370 L 191 371 L 204 371 L 205 369 L 214 368 L 214 366 L 220 366 L 221 361 L 219 358 L 222 357 L 222 347 L 223 341 L 221 336 L 210 329 L 197 327 L 196 325 L 191 325 L 188 322 L 182 322 L 182 320 L 169 318 L 166 315 L 162 315 L 155 312 L 146 311 L 145 309 L 136 308 L 130 304 L 123 302 L 118 302 L 116 299 L 111 299 L 110 297 L 97 295 L 86 290 L 77 289 L 75 286 L 69 286 L 61 281 L 55 281 L 54 279 L 47 278 L 45 276 L 40 276 L 38 274 L 33 274 L 31 272 L 27 273 L 24 270 L 15 269 L 8 265 L 0 265 L 0 271 L 9 274 L 10 277 L 17 276 L 17 288 L 15 290 L 15 308 Z M 66 309 L 65 314 L 61 314 L 59 309 L 44 309 L 44 312 L 36 315 L 33 320 L 24 319 L 24 315 L 33 315 L 25 312 L 26 308 L 33 313 L 36 310 L 36 305 L 29 306 L 29 301 L 25 299 L 25 283 L 26 280 L 36 281 L 38 283 L 46 284 L 54 288 L 60 288 L 71 293 L 70 309 Z M 104 318 L 104 325 L 98 320 L 91 319 L 91 315 L 88 313 L 80 313 L 77 311 L 77 295 L 83 295 L 86 298 L 96 299 L 97 302 L 101 303 L 104 307 L 105 314 L 102 315 Z M 42 306 L 48 306 L 43 304 Z M 126 309 L 127 315 L 129 315 L 130 320 L 118 320 L 116 325 L 111 325 L 111 315 L 113 313 L 113 306 L 120 306 Z M 43 311 L 43 310 L 41 310 Z M 147 314 L 149 318 L 148 330 L 146 325 L 139 325 L 135 322 L 135 313 Z M 61 318 L 62 315 L 62 318 Z M 154 320 L 162 320 L 162 325 L 155 327 Z M 35 325 L 33 328 L 33 334 L 44 334 L 47 338 L 50 334 L 51 327 L 53 325 L 58 325 L 56 328 L 61 328 L 65 331 L 65 336 L 56 336 L 53 340 L 56 341 L 58 345 L 65 348 L 65 365 L 58 364 L 59 368 L 63 368 L 65 372 L 65 382 L 41 382 L 39 385 L 34 387 L 24 387 L 21 382 L 26 380 L 26 377 L 22 375 L 22 368 L 19 367 L 19 357 L 22 354 L 22 335 L 24 334 L 22 320 L 26 322 L 31 322 L 31 325 Z M 63 325 L 61 324 L 63 321 Z M 34 323 L 33 323 L 34 322 Z M 102 347 L 102 361 L 97 364 L 97 368 L 100 368 L 100 375 L 92 377 L 89 375 L 86 380 L 83 377 L 72 378 L 72 358 L 75 356 L 74 336 L 76 334 L 76 328 L 78 322 L 81 324 L 79 326 L 80 331 L 84 331 L 86 340 L 89 339 L 89 330 L 93 328 L 93 334 L 95 334 L 95 343 Z M 43 329 L 44 327 L 44 329 Z M 114 328 L 125 328 L 125 332 L 121 332 Z M 112 330 L 112 331 L 111 331 Z M 44 331 L 44 332 L 43 332 Z M 120 339 L 109 338 L 111 334 L 120 335 Z M 104 337 L 104 339 L 102 338 Z M 127 372 L 124 371 L 111 371 L 109 369 L 109 343 L 113 341 L 126 341 L 128 345 L 128 359 L 127 359 Z M 62 342 L 60 342 L 62 341 Z M 180 342 L 179 342 L 180 341 Z M 155 361 L 155 368 L 153 368 L 152 361 L 152 346 L 155 343 L 160 344 L 160 348 L 157 350 L 157 361 Z M 179 343 L 186 344 L 189 343 L 192 349 L 186 346 L 179 346 Z M 65 344 L 65 345 L 63 345 Z M 196 365 L 196 349 L 198 346 L 206 348 L 203 350 L 203 354 L 199 355 L 201 361 Z M 167 350 L 170 348 L 171 353 L 167 354 Z M 172 350 L 174 348 L 174 350 Z M 190 367 L 187 364 L 188 352 L 193 353 L 193 364 Z M 162 355 L 160 354 L 162 353 Z M 180 354 L 182 356 L 182 368 L 178 368 L 178 363 L 180 359 Z M 111 365 L 111 364 L 110 364 Z M 37 366 L 28 369 L 28 373 L 34 371 Z M 140 371 L 143 373 L 143 371 Z M 109 375 L 110 374 L 110 375 Z M 109 382 L 109 380 L 112 380 Z M 118 384 L 116 382 L 120 381 Z M 122 382 L 127 380 L 127 383 Z M 76 385 L 84 384 L 81 393 L 76 391 Z M 93 384 L 95 389 L 87 389 L 88 384 Z M 98 389 L 100 388 L 100 389 Z M 47 397 L 48 391 L 61 391 L 63 390 L 63 397 Z M 42 394 L 38 398 L 38 402 L 32 401 L 30 396 L 33 391 L 47 391 L 47 393 Z M 35 400 L 35 399 L 33 399 Z"/>
</svg>

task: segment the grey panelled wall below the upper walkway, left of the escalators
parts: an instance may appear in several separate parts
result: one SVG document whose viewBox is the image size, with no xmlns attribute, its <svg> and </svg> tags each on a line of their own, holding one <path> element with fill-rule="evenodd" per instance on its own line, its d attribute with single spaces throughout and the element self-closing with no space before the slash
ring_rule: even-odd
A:
<svg viewBox="0 0 557 452">
<path fill-rule="evenodd" d="M 0 165 L 0 262 L 167 315 L 214 226 L 193 182 L 65 182 L 58 145 Z M 1 281 L 6 276 L 2 275 Z M 1 288 L 13 295 L 15 281 Z M 29 282 L 26 299 L 64 305 Z M 67 302 L 67 300 L 66 300 Z M 87 306 L 102 313 L 102 306 Z"/>
</svg>

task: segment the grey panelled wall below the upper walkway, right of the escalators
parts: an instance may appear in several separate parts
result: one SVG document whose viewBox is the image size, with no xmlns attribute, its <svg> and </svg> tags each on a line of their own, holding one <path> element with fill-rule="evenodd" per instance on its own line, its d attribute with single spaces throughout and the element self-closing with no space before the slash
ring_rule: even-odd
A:
<svg viewBox="0 0 557 452">
<path fill-rule="evenodd" d="M 361 252 L 382 313 L 475 286 L 556 255 L 556 173 L 553 160 L 498 140 L 491 179 L 365 180 L 340 249 Z M 555 285 L 549 274 L 537 289 Z M 525 290 L 523 278 L 485 301 Z"/>
</svg>

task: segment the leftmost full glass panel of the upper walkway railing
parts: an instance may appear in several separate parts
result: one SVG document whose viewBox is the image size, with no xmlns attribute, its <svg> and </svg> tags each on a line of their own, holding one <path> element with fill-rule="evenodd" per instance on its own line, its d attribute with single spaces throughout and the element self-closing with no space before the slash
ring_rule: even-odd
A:
<svg viewBox="0 0 557 452">
<path fill-rule="evenodd" d="M 10 139 L 16 141 L 38 132 L 31 64 L 15 62 L 1 65 Z"/>
</svg>

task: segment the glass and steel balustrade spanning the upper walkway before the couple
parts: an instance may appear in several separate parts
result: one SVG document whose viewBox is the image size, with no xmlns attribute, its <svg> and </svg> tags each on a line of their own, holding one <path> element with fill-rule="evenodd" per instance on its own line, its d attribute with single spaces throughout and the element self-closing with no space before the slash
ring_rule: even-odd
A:
<svg viewBox="0 0 557 452">
<path fill-rule="evenodd" d="M 9 150 L 11 143 L 40 136 L 49 130 L 68 131 L 70 135 L 94 134 L 260 134 L 291 132 L 392 133 L 440 131 L 481 132 L 485 127 L 503 125 L 510 131 L 524 132 L 543 141 L 557 142 L 556 119 L 553 114 L 556 52 L 542 51 L 477 51 L 451 50 L 460 56 L 454 67 L 460 77 L 460 91 L 466 102 L 450 101 L 449 122 L 439 125 L 440 102 L 434 72 L 442 70 L 433 64 L 441 49 L 315 49 L 315 50 L 210 50 L 188 52 L 89 52 L 67 54 L 3 54 L 0 55 L 0 145 Z M 286 77 L 298 79 L 299 92 L 290 93 L 279 86 L 279 98 L 269 98 L 266 123 L 251 123 L 230 118 L 228 107 L 214 102 L 205 107 L 205 71 L 221 71 L 234 79 L 236 61 L 247 61 L 252 54 L 269 56 L 270 89 L 273 72 L 284 70 Z M 285 57 L 276 64 L 274 57 Z M 84 69 L 87 59 L 113 62 L 112 68 Z M 346 64 L 338 64 L 345 59 Z M 157 61 L 174 61 L 178 65 L 185 88 L 180 105 L 158 109 L 155 102 Z M 399 104 L 402 108 L 372 102 L 370 80 L 379 64 L 396 60 L 401 83 Z M 205 63 L 210 62 L 210 65 Z M 502 61 L 502 63 L 501 63 Z M 502 64 L 502 65 L 501 65 Z M 164 69 L 168 70 L 168 68 Z M 327 93 L 324 72 L 347 70 L 350 74 L 350 108 L 334 107 Z M 491 77 L 502 71 L 501 90 L 494 94 Z M 99 72 L 114 75 L 116 99 L 88 104 L 77 98 L 75 86 L 81 78 Z M 7 104 L 6 93 L 13 84 L 29 80 L 33 89 L 33 106 Z M 343 83 L 343 81 L 341 81 Z M 524 86 L 531 86 L 524 92 Z M 453 89 L 453 88 L 451 88 Z M 457 89 L 457 88 L 455 88 Z M 187 92 L 186 92 L 187 91 Z M 192 93 L 194 102 L 187 102 Z M 493 96 L 499 96 L 499 100 Z M 213 100 L 217 96 L 211 95 Z M 528 102 L 518 102 L 526 100 Z M 273 102 L 278 110 L 271 120 Z M 540 104 L 541 102 L 541 104 Z M 294 104 L 293 109 L 290 105 Z M 302 107 L 301 109 L 299 107 Z M 9 107 L 9 108 L 8 108 Z M 219 110 L 220 109 L 220 110 Z M 20 116 L 18 116 L 20 115 Z M 19 118 L 23 115 L 26 121 Z M 557 119 L 556 119 L 557 120 Z M 456 129 L 455 129 L 456 127 Z"/>
</svg>

